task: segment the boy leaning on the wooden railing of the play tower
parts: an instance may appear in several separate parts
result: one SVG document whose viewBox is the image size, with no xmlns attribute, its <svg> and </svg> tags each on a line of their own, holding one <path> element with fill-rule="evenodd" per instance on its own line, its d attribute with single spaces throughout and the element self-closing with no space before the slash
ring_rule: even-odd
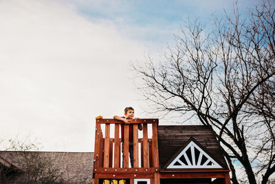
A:
<svg viewBox="0 0 275 184">
<path fill-rule="evenodd" d="M 124 109 L 124 116 L 113 116 L 113 119 L 123 121 L 125 124 L 129 124 L 129 154 L 130 154 L 130 163 L 131 167 L 133 167 L 133 124 L 129 123 L 135 114 L 135 110 L 132 107 L 127 107 Z M 138 118 L 135 118 L 138 119 Z M 121 140 L 122 140 L 122 158 L 123 150 L 124 150 L 124 124 L 121 125 Z M 142 124 L 138 124 L 138 129 L 142 130 Z M 123 159 L 122 159 L 122 167 L 123 167 Z"/>
</svg>

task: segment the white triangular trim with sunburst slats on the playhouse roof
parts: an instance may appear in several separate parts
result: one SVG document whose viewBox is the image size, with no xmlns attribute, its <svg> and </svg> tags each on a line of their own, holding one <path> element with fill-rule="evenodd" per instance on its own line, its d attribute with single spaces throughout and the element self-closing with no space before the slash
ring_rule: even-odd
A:
<svg viewBox="0 0 275 184">
<path fill-rule="evenodd" d="M 191 147 L 191 161 L 188 159 L 188 156 L 186 154 L 186 151 Z M 199 158 L 197 163 L 195 163 L 195 149 L 199 151 Z M 184 159 L 186 160 L 186 164 L 184 164 L 179 158 L 181 156 L 184 156 Z M 208 159 L 205 163 L 201 163 L 201 159 L 203 156 L 206 156 Z M 179 163 L 180 165 L 175 165 L 175 163 Z M 207 165 L 209 162 L 212 162 L 212 165 Z M 204 152 L 201 147 L 199 147 L 196 143 L 193 141 L 190 141 L 186 147 L 184 147 L 184 150 L 182 150 L 177 157 L 166 167 L 167 169 L 186 169 L 186 168 L 222 168 L 221 165 L 219 165 L 214 159 L 211 158 L 206 152 Z"/>
</svg>

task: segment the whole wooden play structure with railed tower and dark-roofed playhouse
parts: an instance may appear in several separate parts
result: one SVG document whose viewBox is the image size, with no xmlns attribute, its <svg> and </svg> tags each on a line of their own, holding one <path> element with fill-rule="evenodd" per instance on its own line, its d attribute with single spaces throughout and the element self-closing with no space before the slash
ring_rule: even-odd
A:
<svg viewBox="0 0 275 184">
<path fill-rule="evenodd" d="M 161 126 L 158 119 L 133 120 L 133 167 L 129 167 L 129 125 L 123 123 L 121 140 L 122 123 L 96 119 L 93 184 L 106 179 L 123 179 L 127 184 L 230 183 L 230 170 L 211 127 Z"/>
</svg>

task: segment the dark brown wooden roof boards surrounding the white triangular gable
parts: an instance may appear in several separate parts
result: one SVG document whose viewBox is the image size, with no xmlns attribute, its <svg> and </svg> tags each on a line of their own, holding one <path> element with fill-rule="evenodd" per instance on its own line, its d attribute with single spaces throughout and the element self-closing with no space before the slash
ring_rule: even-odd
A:
<svg viewBox="0 0 275 184">
<path fill-rule="evenodd" d="M 225 162 L 214 132 L 208 126 L 159 125 L 157 136 L 159 142 L 159 167 L 161 170 L 164 170 L 164 165 L 186 145 L 191 137 L 207 150 L 212 159 L 223 167 L 223 170 L 228 170 L 228 165 Z"/>
</svg>

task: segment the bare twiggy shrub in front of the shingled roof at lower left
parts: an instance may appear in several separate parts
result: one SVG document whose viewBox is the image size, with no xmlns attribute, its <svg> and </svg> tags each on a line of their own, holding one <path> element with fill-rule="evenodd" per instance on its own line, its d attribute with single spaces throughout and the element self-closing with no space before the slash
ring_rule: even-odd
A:
<svg viewBox="0 0 275 184">
<path fill-rule="evenodd" d="M 13 163 L 13 168 L 9 167 L 12 174 L 1 174 L 1 183 L 66 183 L 64 173 L 53 164 L 52 158 L 42 156 L 39 152 L 30 152 L 39 151 L 36 144 L 10 140 L 8 150 L 13 150 L 7 156 L 9 162 L 5 160 L 6 163 Z M 14 172 L 15 169 L 20 172 Z"/>
</svg>

